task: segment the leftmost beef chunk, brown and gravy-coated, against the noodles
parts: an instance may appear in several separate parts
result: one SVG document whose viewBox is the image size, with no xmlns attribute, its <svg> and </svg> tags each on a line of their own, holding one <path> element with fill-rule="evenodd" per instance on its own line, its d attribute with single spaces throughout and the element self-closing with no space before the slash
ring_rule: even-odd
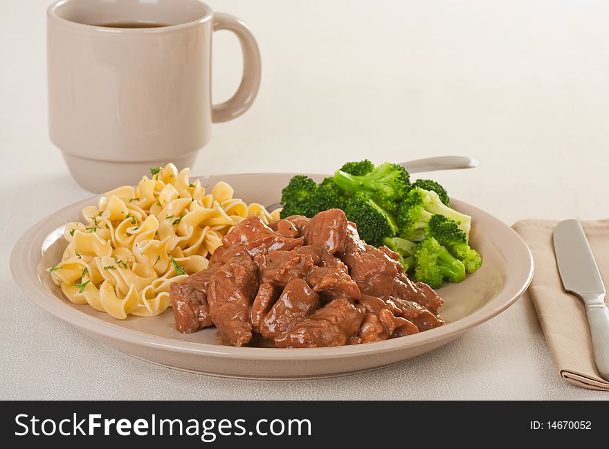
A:
<svg viewBox="0 0 609 449">
<path fill-rule="evenodd" d="M 193 273 L 182 282 L 172 282 L 170 299 L 176 319 L 176 327 L 181 333 L 192 333 L 211 326 L 212 320 L 207 302 L 207 288 L 217 267 Z"/>
</svg>

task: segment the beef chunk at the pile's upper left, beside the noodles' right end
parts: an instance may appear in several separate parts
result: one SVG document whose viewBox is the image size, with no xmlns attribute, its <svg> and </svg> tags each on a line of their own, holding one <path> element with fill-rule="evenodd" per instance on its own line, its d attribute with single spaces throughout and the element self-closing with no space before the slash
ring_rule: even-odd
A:
<svg viewBox="0 0 609 449">
<path fill-rule="evenodd" d="M 262 223 L 259 217 L 249 217 L 237 224 L 222 238 L 222 244 L 230 247 L 243 245 L 250 255 L 270 253 L 272 250 L 291 250 L 302 246 L 304 239 L 284 237 Z"/>
</svg>

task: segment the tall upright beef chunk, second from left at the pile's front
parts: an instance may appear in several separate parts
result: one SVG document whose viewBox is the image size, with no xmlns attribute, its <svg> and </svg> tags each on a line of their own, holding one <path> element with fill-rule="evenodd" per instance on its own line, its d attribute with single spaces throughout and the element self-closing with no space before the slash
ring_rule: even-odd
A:
<svg viewBox="0 0 609 449">
<path fill-rule="evenodd" d="M 210 315 L 222 340 L 243 346 L 252 338 L 250 307 L 258 287 L 258 267 L 248 255 L 221 266 L 208 286 Z"/>
</svg>

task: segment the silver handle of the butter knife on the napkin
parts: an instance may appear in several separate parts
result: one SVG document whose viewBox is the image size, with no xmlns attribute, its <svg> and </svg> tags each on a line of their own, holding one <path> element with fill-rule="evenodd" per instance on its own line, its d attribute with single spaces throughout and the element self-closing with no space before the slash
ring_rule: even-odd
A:
<svg viewBox="0 0 609 449">
<path fill-rule="evenodd" d="M 609 381 L 609 310 L 603 296 L 597 296 L 594 300 L 588 298 L 585 301 L 585 314 L 590 325 L 594 362 L 601 377 Z"/>
</svg>

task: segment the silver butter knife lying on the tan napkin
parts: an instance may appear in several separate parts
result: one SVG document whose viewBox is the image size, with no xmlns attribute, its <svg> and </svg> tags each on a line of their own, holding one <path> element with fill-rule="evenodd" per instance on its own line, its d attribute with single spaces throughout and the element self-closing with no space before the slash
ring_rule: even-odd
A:
<svg viewBox="0 0 609 449">
<path fill-rule="evenodd" d="M 554 229 L 554 250 L 565 291 L 583 301 L 594 361 L 601 377 L 609 381 L 609 310 L 604 301 L 605 286 L 579 221 L 558 223 Z"/>
</svg>

